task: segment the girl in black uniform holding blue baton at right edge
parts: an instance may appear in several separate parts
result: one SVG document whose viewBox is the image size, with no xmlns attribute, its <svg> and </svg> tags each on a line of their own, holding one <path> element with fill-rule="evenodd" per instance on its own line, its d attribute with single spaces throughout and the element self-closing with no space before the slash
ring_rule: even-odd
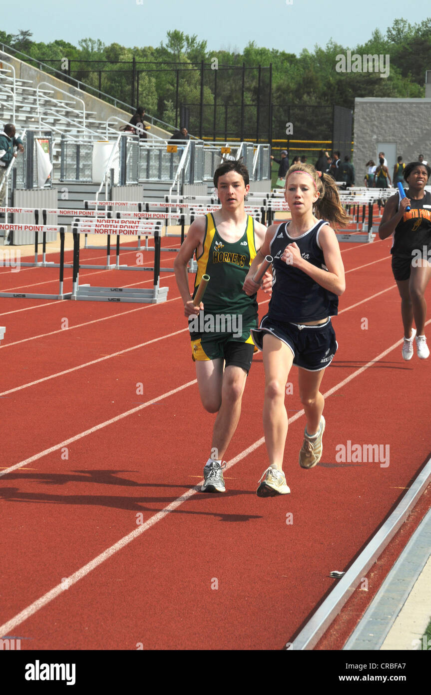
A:
<svg viewBox="0 0 431 695">
<path fill-rule="evenodd" d="M 427 313 L 424 294 L 431 277 L 431 194 L 424 190 L 430 174 L 430 167 L 421 162 L 406 165 L 407 197 L 399 201 L 397 193 L 389 198 L 379 227 L 381 239 L 394 235 L 392 272 L 401 297 L 402 354 L 406 360 L 413 357 L 415 336 L 418 357 L 426 359 L 430 354 L 423 334 Z M 411 208 L 409 212 L 408 206 Z M 413 319 L 416 329 L 412 328 Z"/>
</svg>

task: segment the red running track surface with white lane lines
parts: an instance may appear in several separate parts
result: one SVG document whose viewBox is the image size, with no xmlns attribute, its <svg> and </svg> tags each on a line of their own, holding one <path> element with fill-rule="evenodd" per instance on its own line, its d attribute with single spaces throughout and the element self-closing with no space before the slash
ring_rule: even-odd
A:
<svg viewBox="0 0 431 695">
<path fill-rule="evenodd" d="M 197 491 L 214 416 L 198 397 L 172 273 L 162 273 L 169 293 L 158 305 L 0 299 L 0 637 L 21 637 L 26 650 L 292 641 L 335 586 L 330 571 L 353 562 L 430 452 L 430 365 L 401 357 L 389 246 L 341 245 L 347 289 L 322 384 L 323 458 L 311 471 L 298 465 L 305 418 L 294 368 L 291 494 L 280 498 L 255 495 L 268 465 L 261 354 L 226 456 L 227 492 Z M 81 256 L 90 259 L 103 263 L 104 252 Z M 55 293 L 57 278 L 58 269 L 0 268 L 2 291 Z M 152 275 L 81 270 L 80 281 L 149 287 Z M 258 299 L 263 316 L 268 297 Z M 389 466 L 337 461 L 348 440 L 389 445 Z"/>
</svg>

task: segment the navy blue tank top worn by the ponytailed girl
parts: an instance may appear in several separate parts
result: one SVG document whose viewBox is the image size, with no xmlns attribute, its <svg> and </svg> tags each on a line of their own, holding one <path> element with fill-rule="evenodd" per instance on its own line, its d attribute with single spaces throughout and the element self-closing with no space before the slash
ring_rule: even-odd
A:
<svg viewBox="0 0 431 695">
<path fill-rule="evenodd" d="M 296 242 L 303 259 L 316 268 L 328 270 L 323 251 L 319 246 L 319 229 L 325 220 L 319 220 L 301 236 L 289 236 L 289 222 L 282 222 L 269 245 L 273 257 L 273 286 L 268 314 L 277 321 L 304 323 L 317 321 L 326 316 L 337 316 L 338 297 L 317 284 L 310 275 L 302 270 L 280 261 L 280 256 L 287 245 Z"/>
</svg>

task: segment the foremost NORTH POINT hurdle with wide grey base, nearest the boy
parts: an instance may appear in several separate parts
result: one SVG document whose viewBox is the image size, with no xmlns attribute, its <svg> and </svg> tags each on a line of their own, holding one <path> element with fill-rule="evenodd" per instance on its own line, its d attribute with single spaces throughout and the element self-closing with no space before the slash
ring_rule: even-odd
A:
<svg viewBox="0 0 431 695">
<path fill-rule="evenodd" d="M 104 222 L 104 223 L 103 223 Z M 136 225 L 129 225 L 124 229 L 121 220 L 103 220 L 103 222 L 75 222 L 72 227 L 74 235 L 74 270 L 73 270 L 73 290 L 71 300 L 92 301 L 92 302 L 135 302 L 144 304 L 159 304 L 167 300 L 167 287 L 160 287 L 160 226 L 161 222 L 155 221 L 151 224 L 151 231 L 154 235 L 154 268 L 128 268 L 119 265 L 119 235 L 126 234 L 135 236 Z M 91 224 L 91 226 L 90 226 Z M 137 221 L 140 229 L 145 233 L 150 232 L 148 223 Z M 117 236 L 117 269 L 118 270 L 144 270 L 154 272 L 153 288 L 136 289 L 127 287 L 95 287 L 91 285 L 79 284 L 79 238 L 81 234 L 114 234 Z"/>
</svg>

